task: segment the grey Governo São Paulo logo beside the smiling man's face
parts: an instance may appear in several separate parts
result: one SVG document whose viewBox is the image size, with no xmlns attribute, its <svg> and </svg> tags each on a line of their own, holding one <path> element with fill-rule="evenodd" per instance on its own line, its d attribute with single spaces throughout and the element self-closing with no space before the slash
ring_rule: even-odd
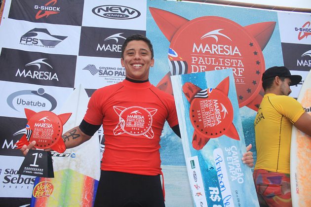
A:
<svg viewBox="0 0 311 207">
<path fill-rule="evenodd" d="M 96 68 L 95 65 L 89 64 L 83 68 L 84 70 L 88 70 L 92 75 L 96 75 L 98 73 L 99 76 L 102 77 L 122 77 L 125 78 L 125 69 L 124 68 L 116 68 L 116 67 L 99 67 Z"/>
</svg>

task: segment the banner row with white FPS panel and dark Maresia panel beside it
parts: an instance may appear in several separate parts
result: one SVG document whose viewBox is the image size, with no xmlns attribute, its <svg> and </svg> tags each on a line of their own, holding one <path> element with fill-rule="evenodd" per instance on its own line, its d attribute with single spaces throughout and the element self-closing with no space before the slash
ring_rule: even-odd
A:
<svg viewBox="0 0 311 207">
<path fill-rule="evenodd" d="M 15 32 L 8 36 L 5 31 Z M 8 20 L 1 24 L 0 46 L 51 54 L 120 58 L 122 44 L 133 34 L 146 35 L 146 31 L 54 27 Z"/>
</svg>

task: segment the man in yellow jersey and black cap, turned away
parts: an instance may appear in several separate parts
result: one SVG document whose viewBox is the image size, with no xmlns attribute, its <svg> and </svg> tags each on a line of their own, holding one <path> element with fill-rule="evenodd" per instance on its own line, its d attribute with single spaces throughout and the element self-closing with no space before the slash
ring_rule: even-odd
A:
<svg viewBox="0 0 311 207">
<path fill-rule="evenodd" d="M 262 76 L 265 96 L 254 121 L 257 162 L 253 173 L 260 206 L 291 207 L 290 141 L 292 126 L 311 135 L 311 116 L 288 97 L 290 86 L 301 81 L 282 67 Z"/>
</svg>

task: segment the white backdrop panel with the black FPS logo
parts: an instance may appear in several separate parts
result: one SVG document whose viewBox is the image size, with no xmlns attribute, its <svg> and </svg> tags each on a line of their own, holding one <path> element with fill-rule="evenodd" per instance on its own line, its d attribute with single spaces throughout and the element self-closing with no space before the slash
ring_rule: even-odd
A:
<svg viewBox="0 0 311 207">
<path fill-rule="evenodd" d="M 11 31 L 10 35 L 5 31 Z M 0 45 L 25 51 L 78 55 L 80 31 L 79 26 L 6 19 L 1 22 Z"/>
</svg>

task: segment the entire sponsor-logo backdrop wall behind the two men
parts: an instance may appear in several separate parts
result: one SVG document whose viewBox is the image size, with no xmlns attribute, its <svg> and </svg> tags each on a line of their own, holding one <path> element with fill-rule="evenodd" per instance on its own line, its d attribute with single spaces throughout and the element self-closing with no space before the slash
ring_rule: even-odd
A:
<svg viewBox="0 0 311 207">
<path fill-rule="evenodd" d="M 80 84 L 90 96 L 122 81 L 126 36 L 147 31 L 156 60 L 150 81 L 168 93 L 171 74 L 232 68 L 245 142 L 254 145 L 260 75 L 275 65 L 307 74 L 310 22 L 302 13 L 163 0 L 6 0 L 0 26 L 1 199 L 22 206 L 32 196 L 33 184 L 25 180 L 33 179 L 14 174 L 21 162 L 14 159 L 22 159 L 15 143 L 25 133 L 24 108 L 60 114 Z M 300 85 L 293 88 L 297 97 Z M 99 137 L 103 144 L 102 132 Z M 166 206 L 194 205 L 181 140 L 168 125 L 160 153 Z"/>
</svg>

